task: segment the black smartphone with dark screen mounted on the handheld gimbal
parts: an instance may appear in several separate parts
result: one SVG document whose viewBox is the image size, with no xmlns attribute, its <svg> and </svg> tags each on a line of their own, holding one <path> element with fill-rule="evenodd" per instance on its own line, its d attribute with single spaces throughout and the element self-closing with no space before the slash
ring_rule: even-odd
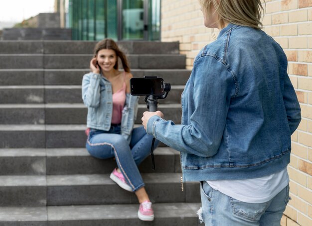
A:
<svg viewBox="0 0 312 226">
<path fill-rule="evenodd" d="M 163 79 L 161 78 L 132 78 L 130 79 L 131 94 L 134 96 L 162 96 Z"/>
</svg>

